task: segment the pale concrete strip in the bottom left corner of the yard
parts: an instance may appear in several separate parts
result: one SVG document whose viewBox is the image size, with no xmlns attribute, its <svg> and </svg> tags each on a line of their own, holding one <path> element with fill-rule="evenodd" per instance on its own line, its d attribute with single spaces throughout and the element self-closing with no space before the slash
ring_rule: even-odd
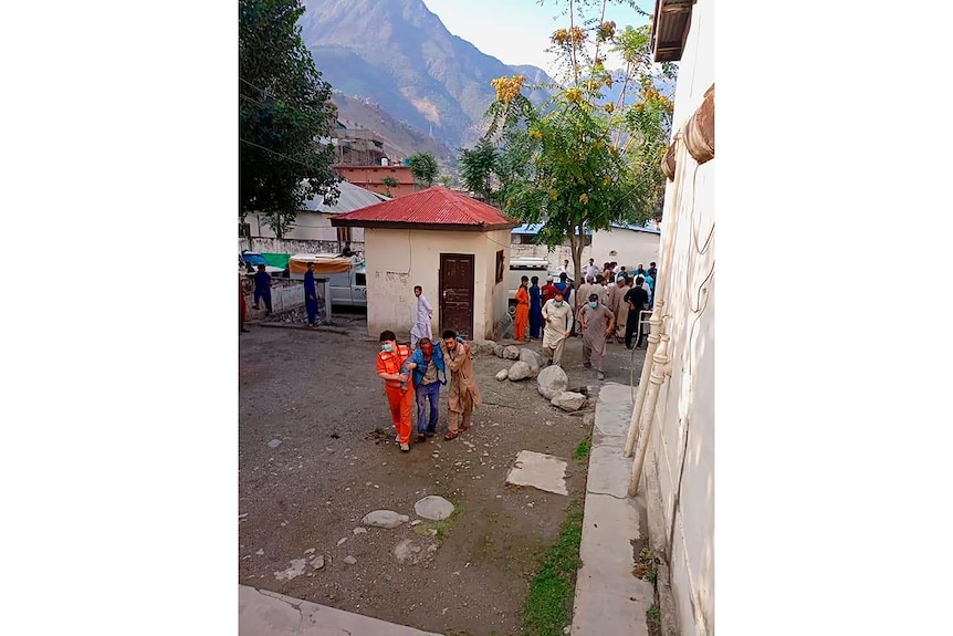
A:
<svg viewBox="0 0 953 636">
<path fill-rule="evenodd" d="M 239 636 L 440 636 L 239 585 Z"/>
</svg>

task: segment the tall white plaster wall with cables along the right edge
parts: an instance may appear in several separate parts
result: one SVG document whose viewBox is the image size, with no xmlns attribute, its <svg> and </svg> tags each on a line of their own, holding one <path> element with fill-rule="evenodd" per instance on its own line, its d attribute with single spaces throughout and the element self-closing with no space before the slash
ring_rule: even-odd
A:
<svg viewBox="0 0 953 636">
<path fill-rule="evenodd" d="M 714 82 L 713 11 L 713 0 L 699 0 L 692 11 L 679 66 L 676 129 Z M 684 636 L 701 636 L 714 634 L 715 168 L 714 160 L 698 166 L 688 154 L 682 161 L 680 204 L 676 209 L 677 192 L 669 183 L 661 241 L 664 244 L 674 225 L 672 265 L 660 272 L 668 278 L 672 375 L 659 396 L 651 445 L 671 536 L 669 563 L 680 629 Z"/>
</svg>

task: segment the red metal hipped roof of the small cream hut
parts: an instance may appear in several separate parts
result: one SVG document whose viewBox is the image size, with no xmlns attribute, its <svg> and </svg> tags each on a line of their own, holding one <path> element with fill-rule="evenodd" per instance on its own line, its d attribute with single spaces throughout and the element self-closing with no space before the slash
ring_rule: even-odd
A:
<svg viewBox="0 0 953 636">
<path fill-rule="evenodd" d="M 500 210 L 476 199 L 440 186 L 338 215 L 332 225 L 339 227 L 404 227 L 407 229 L 501 230 L 516 222 Z"/>
</svg>

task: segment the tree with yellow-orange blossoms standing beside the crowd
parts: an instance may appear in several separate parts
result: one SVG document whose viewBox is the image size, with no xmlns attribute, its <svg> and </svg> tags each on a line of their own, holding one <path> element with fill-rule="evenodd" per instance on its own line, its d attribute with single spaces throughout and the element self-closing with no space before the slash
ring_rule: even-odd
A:
<svg viewBox="0 0 953 636">
<path fill-rule="evenodd" d="M 486 138 L 499 153 L 504 209 L 521 221 L 543 223 L 538 240 L 551 248 L 568 238 L 582 281 L 586 230 L 641 223 L 661 209 L 660 163 L 672 103 L 657 81 L 673 79 L 674 67 L 652 63 L 649 25 L 617 33 L 615 22 L 600 22 L 607 0 L 561 3 L 569 24 L 553 33 L 551 51 L 564 70 L 562 87 L 535 107 L 522 94 L 522 75 L 493 80 L 496 101 L 488 110 Z M 586 15 L 593 10 L 595 15 Z M 625 60 L 624 71 L 605 67 L 610 49 Z M 619 95 L 609 100 L 617 83 Z"/>
</svg>

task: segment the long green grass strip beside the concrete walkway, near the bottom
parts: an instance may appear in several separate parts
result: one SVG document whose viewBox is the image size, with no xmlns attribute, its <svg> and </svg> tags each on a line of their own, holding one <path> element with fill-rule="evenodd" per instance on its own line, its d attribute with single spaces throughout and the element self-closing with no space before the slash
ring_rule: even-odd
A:
<svg viewBox="0 0 953 636">
<path fill-rule="evenodd" d="M 583 507 L 569 503 L 559 538 L 543 553 L 536 576 L 523 603 L 523 636 L 562 636 L 569 624 L 576 591 L 576 571 L 583 565 Z"/>
</svg>

